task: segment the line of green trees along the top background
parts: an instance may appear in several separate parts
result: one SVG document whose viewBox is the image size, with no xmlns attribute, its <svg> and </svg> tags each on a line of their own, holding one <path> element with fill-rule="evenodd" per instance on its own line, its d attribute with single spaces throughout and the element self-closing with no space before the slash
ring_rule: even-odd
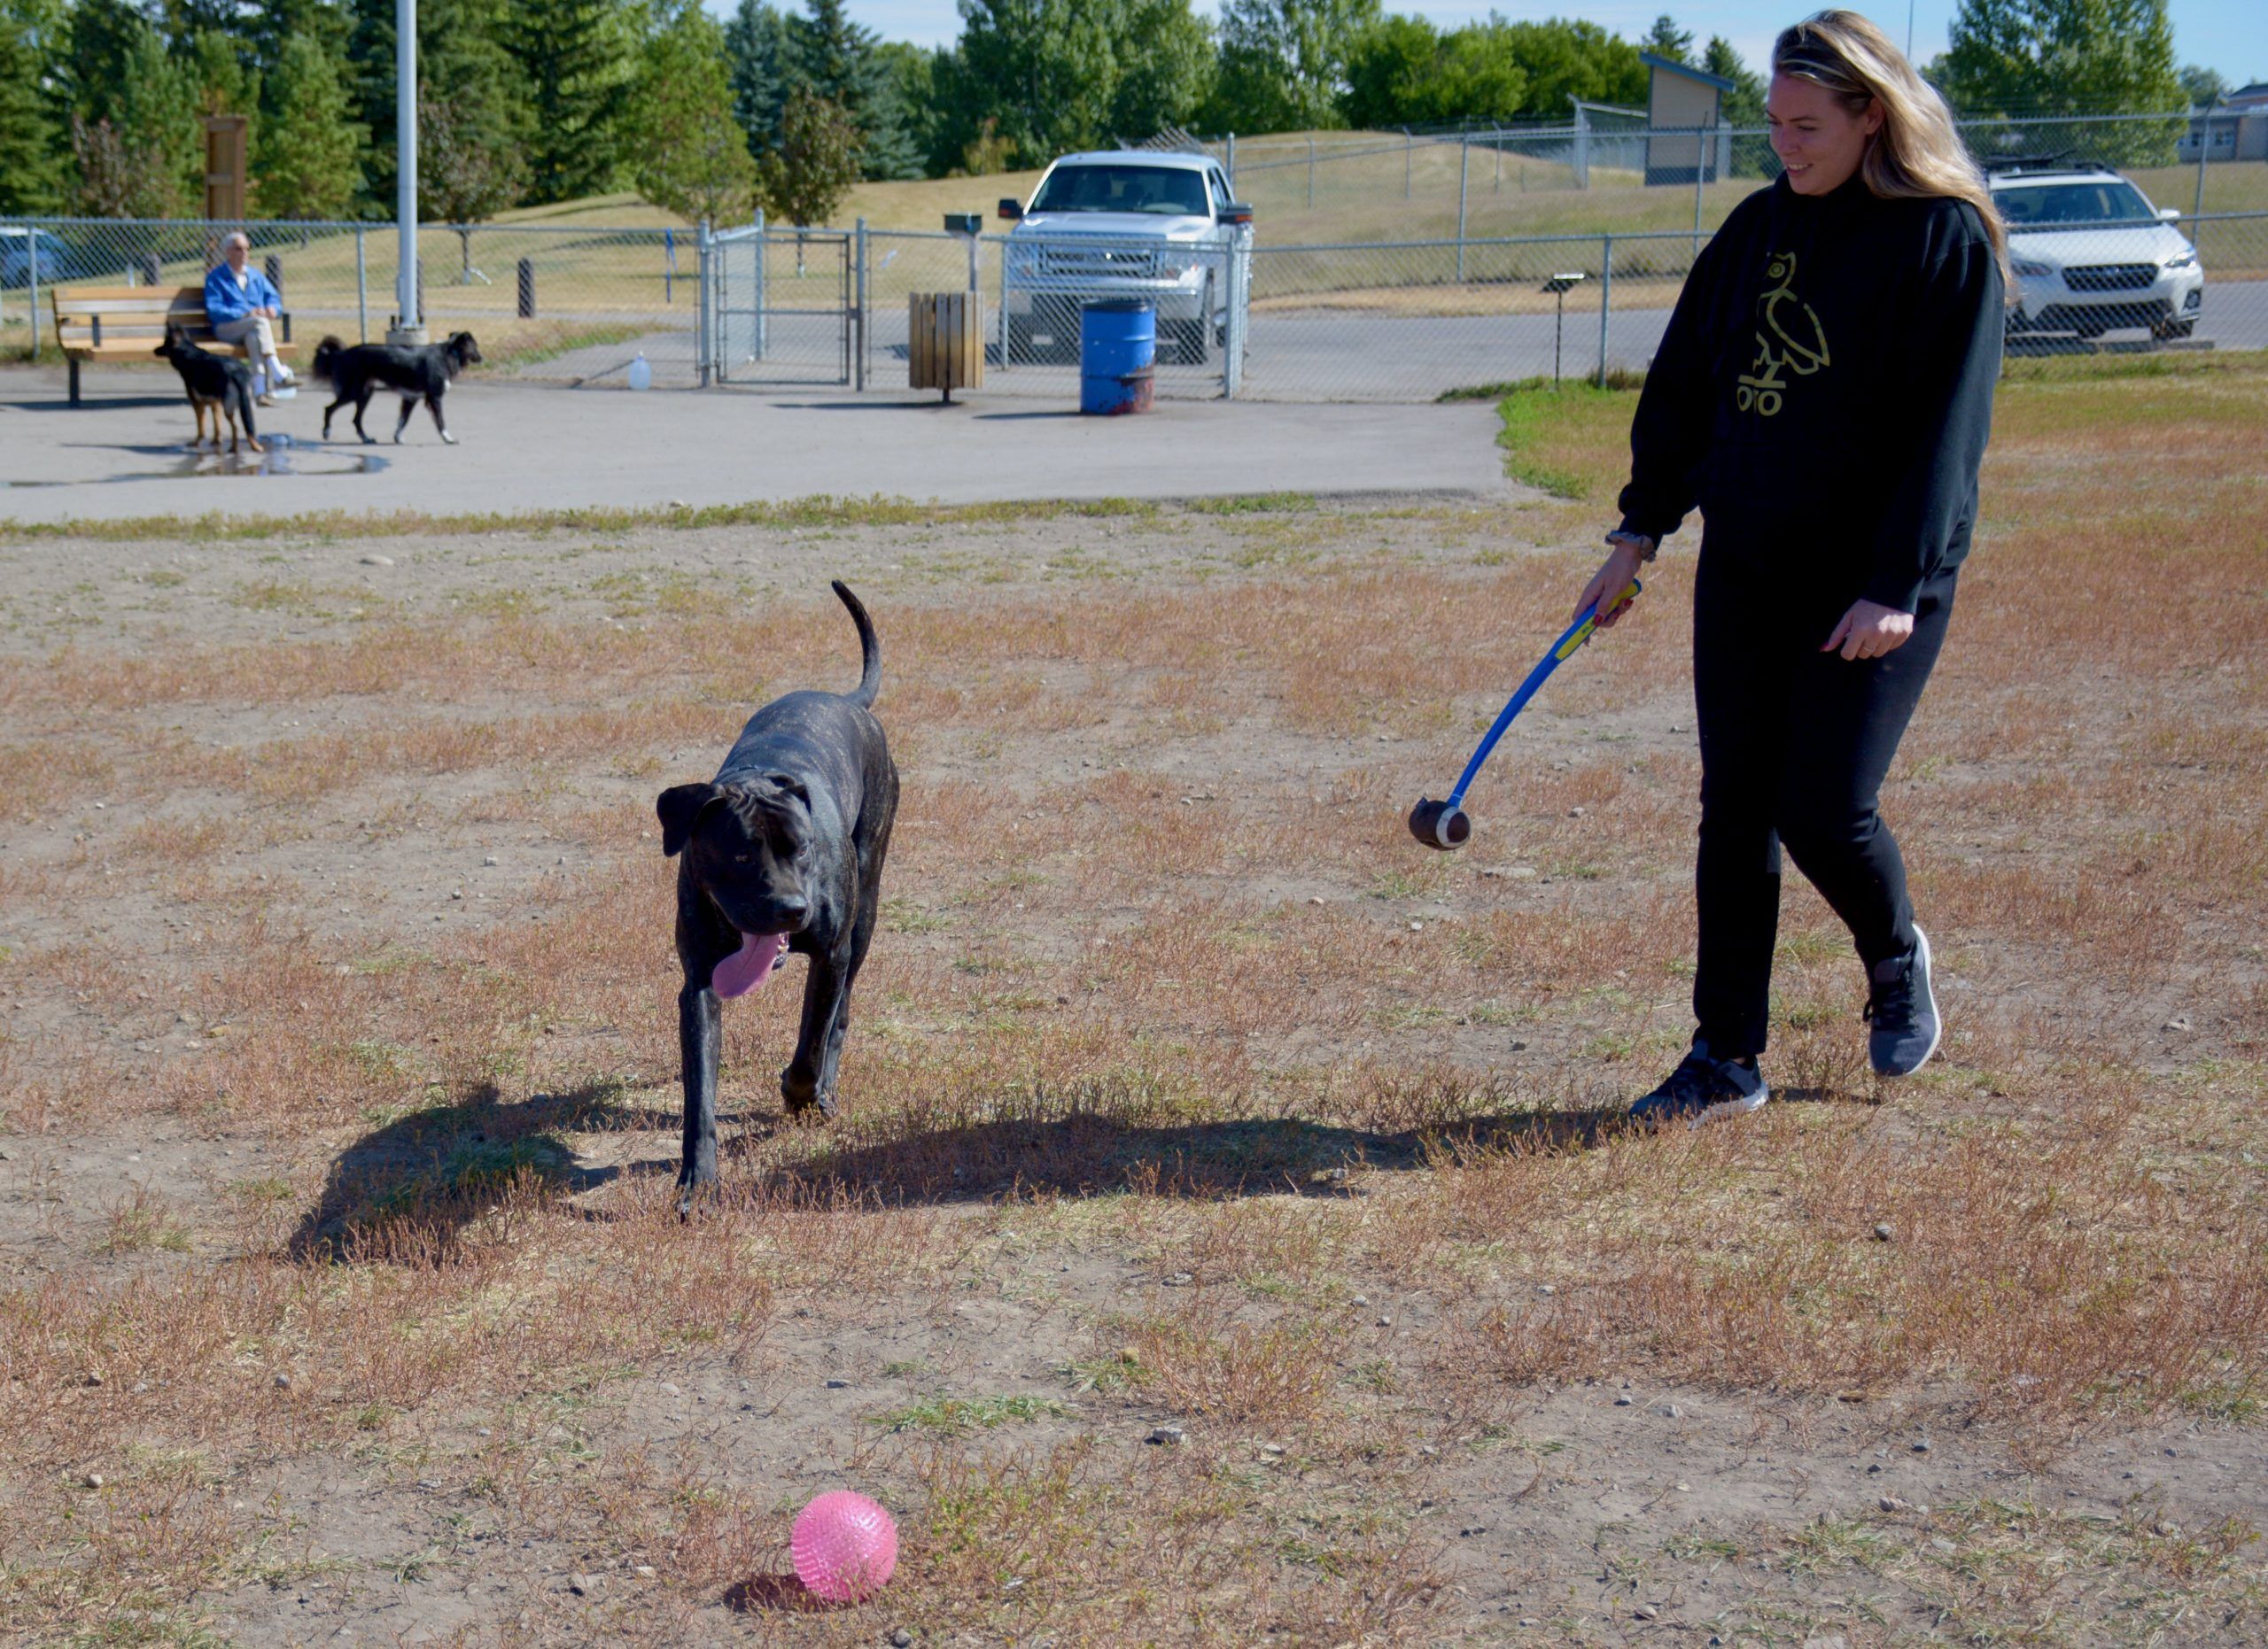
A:
<svg viewBox="0 0 2268 1649">
<path fill-rule="evenodd" d="M 882 41 L 844 0 L 420 0 L 420 197 L 481 220 L 615 188 L 689 218 L 792 222 L 857 179 L 1041 166 L 1161 127 L 1300 132 L 1565 120 L 1644 104 L 1640 52 L 1765 86 L 1669 16 L 1461 27 L 1381 0 L 959 0 L 948 48 Z M 1962 109 L 2166 109 L 2166 0 L 1962 0 L 1930 66 Z M 252 116 L 252 211 L 383 218 L 395 0 L 0 0 L 0 213 L 197 215 L 209 113 Z"/>
</svg>

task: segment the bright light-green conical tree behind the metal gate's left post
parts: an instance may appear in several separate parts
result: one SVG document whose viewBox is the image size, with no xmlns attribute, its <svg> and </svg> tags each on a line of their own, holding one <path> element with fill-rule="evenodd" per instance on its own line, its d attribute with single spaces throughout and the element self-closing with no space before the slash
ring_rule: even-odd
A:
<svg viewBox="0 0 2268 1649">
<path fill-rule="evenodd" d="M 748 136 L 733 116 L 723 29 L 687 7 L 644 50 L 626 116 L 637 193 L 694 222 L 737 220 L 755 195 Z"/>
</svg>

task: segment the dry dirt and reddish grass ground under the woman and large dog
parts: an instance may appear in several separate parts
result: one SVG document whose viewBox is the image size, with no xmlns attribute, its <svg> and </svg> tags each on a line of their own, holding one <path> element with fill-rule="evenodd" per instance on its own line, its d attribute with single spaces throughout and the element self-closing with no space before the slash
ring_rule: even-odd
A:
<svg viewBox="0 0 2268 1649">
<path fill-rule="evenodd" d="M 2075 649 L 1991 542 L 1892 803 L 1946 1057 L 1864 1077 L 1792 878 L 1789 1102 L 1653 1136 L 1690 544 L 1402 828 L 1594 526 L 0 544 L 0 1638 L 2268 1635 L 2257 563 Z M 853 680 L 830 576 L 905 771 L 846 1116 L 792 964 L 678 1223 L 653 796 Z M 812 1613 L 844 1483 L 905 1561 Z"/>
</svg>

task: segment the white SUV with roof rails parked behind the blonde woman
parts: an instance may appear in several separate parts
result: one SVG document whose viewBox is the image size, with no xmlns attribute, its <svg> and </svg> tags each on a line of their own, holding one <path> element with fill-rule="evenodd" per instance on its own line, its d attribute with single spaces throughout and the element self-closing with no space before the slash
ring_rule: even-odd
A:
<svg viewBox="0 0 2268 1649">
<path fill-rule="evenodd" d="M 2016 270 L 2009 333 L 2073 331 L 2100 338 L 2148 327 L 2186 338 L 2204 306 L 2198 250 L 2127 179 L 2105 166 L 1998 166 L 1991 197 L 2007 222 Z"/>
</svg>

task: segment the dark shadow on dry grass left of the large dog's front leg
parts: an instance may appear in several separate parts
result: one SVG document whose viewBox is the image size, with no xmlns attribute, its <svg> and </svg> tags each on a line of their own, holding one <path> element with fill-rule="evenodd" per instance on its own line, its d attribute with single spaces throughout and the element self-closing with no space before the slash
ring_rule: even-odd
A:
<svg viewBox="0 0 2268 1649">
<path fill-rule="evenodd" d="M 363 1134 L 331 1164 L 322 1198 L 299 1220 L 290 1259 L 445 1254 L 465 1225 L 515 1184 L 574 1195 L 617 1177 L 583 1168 L 560 1139 L 644 1121 L 612 1084 L 538 1093 L 506 1105 L 494 1086 L 429 1105 Z"/>
</svg>

